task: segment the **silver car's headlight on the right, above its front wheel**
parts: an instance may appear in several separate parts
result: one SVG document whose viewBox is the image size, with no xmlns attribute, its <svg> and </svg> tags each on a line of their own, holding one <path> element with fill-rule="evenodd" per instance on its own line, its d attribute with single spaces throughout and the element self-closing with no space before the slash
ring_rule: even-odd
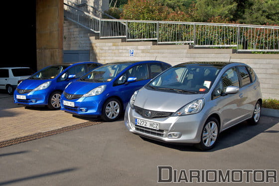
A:
<svg viewBox="0 0 279 186">
<path fill-rule="evenodd" d="M 204 105 L 204 99 L 197 99 L 179 109 L 173 116 L 196 114 L 200 112 Z"/>
</svg>

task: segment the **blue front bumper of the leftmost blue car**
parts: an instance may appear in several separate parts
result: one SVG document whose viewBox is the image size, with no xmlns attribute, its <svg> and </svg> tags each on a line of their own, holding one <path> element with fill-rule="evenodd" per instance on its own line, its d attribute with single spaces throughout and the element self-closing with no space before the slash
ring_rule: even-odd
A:
<svg viewBox="0 0 279 186">
<path fill-rule="evenodd" d="M 17 99 L 16 95 L 26 96 L 26 99 Z M 14 103 L 28 106 L 42 106 L 48 104 L 48 92 L 45 90 L 31 91 L 28 93 L 20 94 L 17 90 L 13 93 Z"/>
</svg>

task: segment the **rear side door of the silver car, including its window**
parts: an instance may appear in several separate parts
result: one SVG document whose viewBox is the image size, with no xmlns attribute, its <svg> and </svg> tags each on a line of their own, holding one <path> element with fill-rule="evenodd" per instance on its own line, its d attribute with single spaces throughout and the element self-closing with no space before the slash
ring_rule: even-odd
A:
<svg viewBox="0 0 279 186">
<path fill-rule="evenodd" d="M 242 96 L 243 105 L 241 110 L 243 112 L 243 120 L 250 118 L 256 104 L 257 85 L 252 83 L 251 75 L 246 66 L 238 66 L 238 73 L 240 79 L 240 92 Z"/>
</svg>

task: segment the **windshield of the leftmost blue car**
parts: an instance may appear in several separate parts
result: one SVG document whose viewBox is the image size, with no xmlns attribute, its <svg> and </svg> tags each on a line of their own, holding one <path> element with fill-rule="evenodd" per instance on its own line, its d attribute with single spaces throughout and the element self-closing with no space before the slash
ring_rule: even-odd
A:
<svg viewBox="0 0 279 186">
<path fill-rule="evenodd" d="M 32 75 L 29 79 L 53 79 L 68 66 L 70 65 L 54 65 L 46 67 Z"/>
</svg>

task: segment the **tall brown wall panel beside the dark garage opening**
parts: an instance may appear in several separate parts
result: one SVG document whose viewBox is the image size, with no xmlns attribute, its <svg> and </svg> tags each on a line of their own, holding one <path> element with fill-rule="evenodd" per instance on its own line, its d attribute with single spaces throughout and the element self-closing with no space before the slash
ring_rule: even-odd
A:
<svg viewBox="0 0 279 186">
<path fill-rule="evenodd" d="M 62 62 L 63 17 L 62 0 L 36 0 L 37 69 Z"/>
</svg>

